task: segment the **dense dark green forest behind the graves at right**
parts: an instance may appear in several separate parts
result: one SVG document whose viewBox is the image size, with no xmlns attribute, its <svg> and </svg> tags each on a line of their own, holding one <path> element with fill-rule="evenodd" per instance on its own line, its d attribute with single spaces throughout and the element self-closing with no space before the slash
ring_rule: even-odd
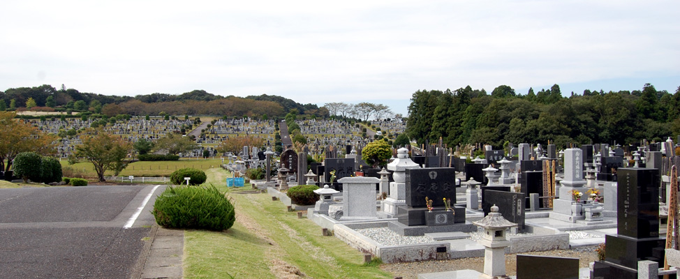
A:
<svg viewBox="0 0 680 279">
<path fill-rule="evenodd" d="M 590 91 L 563 97 L 559 85 L 526 95 L 510 86 L 491 94 L 470 86 L 455 91 L 422 90 L 408 106 L 407 133 L 418 144 L 448 146 L 511 142 L 633 144 L 680 135 L 680 86 L 675 93 L 644 84 L 635 91 Z M 675 140 L 675 138 L 673 139 Z"/>
</svg>

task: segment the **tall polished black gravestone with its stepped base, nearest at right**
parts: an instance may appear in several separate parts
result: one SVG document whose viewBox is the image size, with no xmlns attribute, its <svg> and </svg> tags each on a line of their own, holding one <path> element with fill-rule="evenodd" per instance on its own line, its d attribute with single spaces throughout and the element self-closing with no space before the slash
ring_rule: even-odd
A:
<svg viewBox="0 0 680 279">
<path fill-rule="evenodd" d="M 663 264 L 665 240 L 659 236 L 656 169 L 620 168 L 618 176 L 618 234 L 605 235 L 605 261 L 595 262 L 595 278 L 637 278 L 637 262 Z"/>
</svg>

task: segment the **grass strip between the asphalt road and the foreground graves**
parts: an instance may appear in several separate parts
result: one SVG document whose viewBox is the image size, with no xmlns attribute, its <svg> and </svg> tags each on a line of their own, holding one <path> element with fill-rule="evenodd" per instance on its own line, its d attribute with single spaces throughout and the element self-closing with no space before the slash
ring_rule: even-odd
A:
<svg viewBox="0 0 680 279">
<path fill-rule="evenodd" d="M 392 278 L 378 266 L 364 266 L 363 255 L 333 236 L 321 236 L 311 220 L 297 218 L 267 194 L 239 194 L 250 187 L 226 188 L 230 174 L 208 169 L 207 183 L 228 190 L 237 219 L 226 232 L 187 230 L 186 278 Z"/>
</svg>

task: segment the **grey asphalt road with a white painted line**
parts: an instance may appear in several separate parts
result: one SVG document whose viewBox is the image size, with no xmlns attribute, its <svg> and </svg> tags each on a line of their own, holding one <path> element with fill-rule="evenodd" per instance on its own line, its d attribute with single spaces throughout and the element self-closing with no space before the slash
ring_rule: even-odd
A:
<svg viewBox="0 0 680 279">
<path fill-rule="evenodd" d="M 131 278 L 141 273 L 158 187 L 0 189 L 1 278 Z M 126 224 L 132 224 L 124 228 Z M 148 241 L 146 241 L 148 242 Z M 142 257 L 144 257 L 142 255 Z"/>
</svg>

